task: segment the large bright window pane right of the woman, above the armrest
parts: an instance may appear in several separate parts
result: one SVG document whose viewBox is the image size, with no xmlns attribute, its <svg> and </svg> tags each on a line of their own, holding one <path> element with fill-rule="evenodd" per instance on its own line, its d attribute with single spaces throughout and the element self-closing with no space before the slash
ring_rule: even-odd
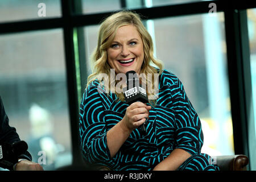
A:
<svg viewBox="0 0 256 182">
<path fill-rule="evenodd" d="M 154 38 L 156 57 L 180 78 L 199 114 L 202 152 L 233 155 L 224 14 L 148 20 L 147 27 Z"/>
</svg>

